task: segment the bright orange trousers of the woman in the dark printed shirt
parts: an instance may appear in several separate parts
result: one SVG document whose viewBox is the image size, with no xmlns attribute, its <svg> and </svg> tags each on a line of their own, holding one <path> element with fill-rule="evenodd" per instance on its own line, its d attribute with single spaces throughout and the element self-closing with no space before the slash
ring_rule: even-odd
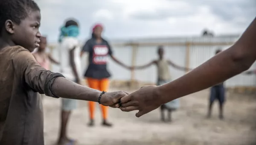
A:
<svg viewBox="0 0 256 145">
<path fill-rule="evenodd" d="M 109 80 L 108 78 L 104 79 L 94 79 L 94 78 L 87 78 L 87 83 L 90 88 L 100 90 L 100 91 L 107 91 L 109 87 Z M 103 106 L 100 104 L 102 108 L 102 117 L 103 119 L 107 119 L 108 117 L 108 107 Z M 89 101 L 89 113 L 90 113 L 90 119 L 94 119 L 94 112 L 95 112 L 95 102 Z"/>
</svg>

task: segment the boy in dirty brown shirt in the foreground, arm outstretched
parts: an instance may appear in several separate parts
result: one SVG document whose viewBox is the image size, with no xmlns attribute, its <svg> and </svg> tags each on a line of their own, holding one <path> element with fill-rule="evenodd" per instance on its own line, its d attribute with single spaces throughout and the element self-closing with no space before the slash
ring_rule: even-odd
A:
<svg viewBox="0 0 256 145">
<path fill-rule="evenodd" d="M 39 47 L 41 14 L 32 0 L 0 0 L 0 145 L 44 145 L 41 97 L 80 99 L 119 107 L 128 93 L 105 93 L 45 70 Z"/>
</svg>

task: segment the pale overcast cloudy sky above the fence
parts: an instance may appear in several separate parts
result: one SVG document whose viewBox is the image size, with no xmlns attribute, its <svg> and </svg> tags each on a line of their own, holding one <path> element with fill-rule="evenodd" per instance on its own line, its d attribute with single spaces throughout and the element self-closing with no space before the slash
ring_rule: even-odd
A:
<svg viewBox="0 0 256 145">
<path fill-rule="evenodd" d="M 58 40 L 59 29 L 73 17 L 81 26 L 80 40 L 103 23 L 108 40 L 241 34 L 256 17 L 256 0 L 35 0 L 41 8 L 41 33 Z M 203 1 L 203 2 L 202 2 Z"/>
</svg>

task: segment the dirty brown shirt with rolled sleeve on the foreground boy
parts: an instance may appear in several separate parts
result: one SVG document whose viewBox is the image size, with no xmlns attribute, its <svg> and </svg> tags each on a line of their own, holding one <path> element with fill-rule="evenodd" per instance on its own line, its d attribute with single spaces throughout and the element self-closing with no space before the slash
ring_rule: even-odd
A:
<svg viewBox="0 0 256 145">
<path fill-rule="evenodd" d="M 21 46 L 0 49 L 0 145 L 44 145 L 43 108 L 37 92 L 51 93 L 54 79 Z"/>
</svg>

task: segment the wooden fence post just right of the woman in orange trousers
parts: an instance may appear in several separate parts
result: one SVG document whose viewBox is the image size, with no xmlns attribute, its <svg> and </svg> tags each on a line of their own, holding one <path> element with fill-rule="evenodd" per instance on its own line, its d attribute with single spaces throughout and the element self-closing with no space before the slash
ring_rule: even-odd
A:
<svg viewBox="0 0 256 145">
<path fill-rule="evenodd" d="M 138 51 L 138 44 L 131 44 L 132 46 L 132 54 L 131 54 L 131 66 L 136 66 L 136 57 Z M 135 73 L 134 70 L 131 70 L 131 85 L 130 88 L 133 88 L 135 84 Z"/>
</svg>

